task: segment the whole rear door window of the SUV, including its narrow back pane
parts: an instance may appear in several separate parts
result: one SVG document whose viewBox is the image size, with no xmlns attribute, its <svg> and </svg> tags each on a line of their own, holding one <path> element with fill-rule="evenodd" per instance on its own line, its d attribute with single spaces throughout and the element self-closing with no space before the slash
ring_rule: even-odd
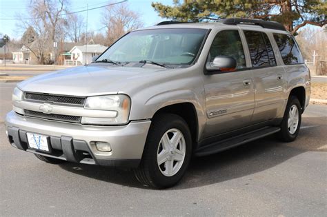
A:
<svg viewBox="0 0 327 217">
<path fill-rule="evenodd" d="M 244 31 L 244 34 L 253 68 L 276 65 L 273 48 L 266 34 L 256 31 Z"/>
</svg>

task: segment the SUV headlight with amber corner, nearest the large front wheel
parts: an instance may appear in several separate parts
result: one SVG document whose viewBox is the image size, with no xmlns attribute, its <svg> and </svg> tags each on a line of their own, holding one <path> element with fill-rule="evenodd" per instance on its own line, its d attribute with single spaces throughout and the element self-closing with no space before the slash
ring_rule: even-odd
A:
<svg viewBox="0 0 327 217">
<path fill-rule="evenodd" d="M 128 123 L 128 116 L 130 114 L 130 98 L 123 94 L 90 96 L 86 99 L 84 107 L 89 110 L 115 111 L 117 112 L 117 115 L 101 118 L 83 117 L 81 119 L 81 123 L 121 125 Z"/>
</svg>

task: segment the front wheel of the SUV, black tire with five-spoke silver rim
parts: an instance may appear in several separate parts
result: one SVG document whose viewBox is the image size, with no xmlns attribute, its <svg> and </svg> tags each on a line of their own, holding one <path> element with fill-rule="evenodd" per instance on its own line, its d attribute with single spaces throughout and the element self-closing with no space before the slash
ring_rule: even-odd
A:
<svg viewBox="0 0 327 217">
<path fill-rule="evenodd" d="M 172 136 L 179 138 L 177 142 Z M 176 114 L 159 114 L 152 119 L 143 157 L 134 174 L 148 187 L 171 187 L 184 176 L 191 155 L 192 138 L 184 119 Z"/>
</svg>

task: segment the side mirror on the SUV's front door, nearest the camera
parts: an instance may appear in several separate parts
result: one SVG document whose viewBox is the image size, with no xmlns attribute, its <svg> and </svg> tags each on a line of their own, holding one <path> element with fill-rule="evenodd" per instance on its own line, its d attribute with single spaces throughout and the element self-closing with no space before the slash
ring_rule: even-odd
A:
<svg viewBox="0 0 327 217">
<path fill-rule="evenodd" d="M 230 56 L 216 56 L 212 62 L 206 64 L 208 74 L 215 72 L 232 72 L 236 70 L 237 61 Z"/>
</svg>

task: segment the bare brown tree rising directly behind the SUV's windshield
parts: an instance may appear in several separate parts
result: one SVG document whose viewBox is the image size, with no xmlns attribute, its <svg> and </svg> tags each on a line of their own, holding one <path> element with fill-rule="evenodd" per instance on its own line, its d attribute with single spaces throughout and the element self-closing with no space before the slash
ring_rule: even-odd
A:
<svg viewBox="0 0 327 217">
<path fill-rule="evenodd" d="M 126 32 L 141 28 L 141 14 L 130 10 L 126 3 L 108 6 L 103 10 L 101 23 L 106 26 L 107 45 L 112 44 Z"/>
</svg>

